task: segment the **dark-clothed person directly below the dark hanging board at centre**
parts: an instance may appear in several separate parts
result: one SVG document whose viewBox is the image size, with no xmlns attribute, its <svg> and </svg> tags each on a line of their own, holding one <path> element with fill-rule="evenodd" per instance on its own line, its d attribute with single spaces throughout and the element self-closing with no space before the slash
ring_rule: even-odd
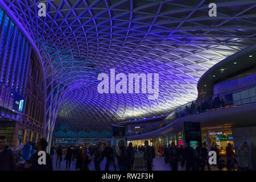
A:
<svg viewBox="0 0 256 182">
<path fill-rule="evenodd" d="M 125 142 L 123 140 L 118 141 L 118 152 L 117 152 L 117 164 L 119 171 L 128 171 L 129 167 L 129 154 L 125 147 Z"/>
</svg>

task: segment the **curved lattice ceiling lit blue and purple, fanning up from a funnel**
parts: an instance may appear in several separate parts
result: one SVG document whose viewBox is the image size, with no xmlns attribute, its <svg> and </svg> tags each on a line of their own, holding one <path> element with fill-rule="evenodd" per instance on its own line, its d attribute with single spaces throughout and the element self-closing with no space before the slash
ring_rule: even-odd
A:
<svg viewBox="0 0 256 182">
<path fill-rule="evenodd" d="M 72 131 L 170 113 L 197 97 L 214 64 L 256 42 L 255 1 L 4 0 L 35 40 L 47 77 L 47 121 Z M 46 3 L 39 17 L 35 2 Z M 159 97 L 99 94 L 97 76 L 159 73 Z M 54 91 L 53 91 L 54 90 Z"/>
</svg>

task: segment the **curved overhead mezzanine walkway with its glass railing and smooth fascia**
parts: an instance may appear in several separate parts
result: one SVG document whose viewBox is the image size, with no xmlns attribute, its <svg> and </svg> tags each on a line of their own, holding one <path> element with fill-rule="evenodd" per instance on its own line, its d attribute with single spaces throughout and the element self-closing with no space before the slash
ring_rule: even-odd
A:
<svg viewBox="0 0 256 182">
<path fill-rule="evenodd" d="M 254 93 L 251 92 L 254 90 Z M 162 137 L 170 133 L 177 133 L 183 130 L 183 122 L 200 122 L 201 127 L 223 125 L 230 123 L 233 127 L 250 126 L 256 118 L 256 85 L 232 92 L 221 93 L 202 98 L 188 104 L 177 107 L 168 117 L 163 120 L 162 126 L 149 126 L 144 133 L 127 137 L 127 140 L 139 140 Z M 230 100 L 230 96 L 247 91 L 249 97 Z M 219 97 L 220 100 L 216 99 Z M 221 102 L 221 98 L 224 98 Z M 194 105 L 193 105 L 194 104 Z"/>
</svg>

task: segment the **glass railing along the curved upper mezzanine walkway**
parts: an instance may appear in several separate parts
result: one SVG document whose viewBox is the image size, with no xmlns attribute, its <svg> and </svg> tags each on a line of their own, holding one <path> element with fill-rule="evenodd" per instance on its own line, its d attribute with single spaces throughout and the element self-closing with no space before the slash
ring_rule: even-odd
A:
<svg viewBox="0 0 256 182">
<path fill-rule="evenodd" d="M 148 126 L 142 129 L 142 131 L 139 133 L 130 133 L 129 136 L 158 130 L 167 126 L 169 123 L 175 121 L 176 119 L 187 117 L 189 115 L 206 113 L 220 109 L 228 109 L 231 107 L 253 104 L 254 102 L 256 102 L 256 85 L 232 90 L 230 92 L 215 94 L 179 106 L 174 111 L 172 111 L 170 115 L 164 118 L 163 123 L 160 125 L 158 123 L 156 125 Z"/>
</svg>

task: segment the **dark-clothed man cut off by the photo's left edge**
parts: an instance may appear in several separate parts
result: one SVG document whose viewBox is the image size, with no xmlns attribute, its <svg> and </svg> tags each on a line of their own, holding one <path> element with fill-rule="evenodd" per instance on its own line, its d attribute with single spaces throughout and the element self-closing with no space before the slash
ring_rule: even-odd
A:
<svg viewBox="0 0 256 182">
<path fill-rule="evenodd" d="M 14 171 L 13 153 L 6 147 L 7 139 L 0 136 L 0 171 Z"/>
</svg>

